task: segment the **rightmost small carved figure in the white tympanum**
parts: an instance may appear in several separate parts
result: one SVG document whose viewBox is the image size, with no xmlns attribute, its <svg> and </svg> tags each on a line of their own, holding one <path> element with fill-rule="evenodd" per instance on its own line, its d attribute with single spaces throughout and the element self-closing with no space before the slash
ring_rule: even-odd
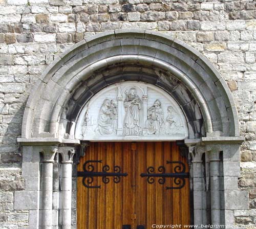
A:
<svg viewBox="0 0 256 229">
<path fill-rule="evenodd" d="M 164 127 L 166 134 L 182 133 L 179 115 L 172 106 L 167 107 L 167 117 L 164 122 Z"/>
</svg>

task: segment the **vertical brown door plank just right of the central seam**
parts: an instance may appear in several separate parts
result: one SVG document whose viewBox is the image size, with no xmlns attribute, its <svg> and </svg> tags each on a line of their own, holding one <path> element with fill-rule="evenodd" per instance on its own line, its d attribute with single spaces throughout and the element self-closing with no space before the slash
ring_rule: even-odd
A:
<svg viewBox="0 0 256 229">
<path fill-rule="evenodd" d="M 146 178 L 141 173 L 146 173 L 146 150 L 145 143 L 137 143 L 138 153 L 136 154 L 136 216 L 137 225 L 146 224 Z"/>
</svg>

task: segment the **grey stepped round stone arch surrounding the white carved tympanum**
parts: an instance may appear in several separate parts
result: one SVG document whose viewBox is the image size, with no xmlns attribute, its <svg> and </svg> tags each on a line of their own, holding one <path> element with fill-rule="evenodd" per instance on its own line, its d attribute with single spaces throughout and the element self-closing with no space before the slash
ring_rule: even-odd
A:
<svg viewBox="0 0 256 229">
<path fill-rule="evenodd" d="M 239 136 L 237 110 L 215 67 L 187 44 L 145 30 L 115 30 L 86 38 L 50 64 L 29 96 L 23 138 L 73 138 L 84 104 L 124 80 L 163 88 L 181 106 L 189 138 Z"/>
</svg>

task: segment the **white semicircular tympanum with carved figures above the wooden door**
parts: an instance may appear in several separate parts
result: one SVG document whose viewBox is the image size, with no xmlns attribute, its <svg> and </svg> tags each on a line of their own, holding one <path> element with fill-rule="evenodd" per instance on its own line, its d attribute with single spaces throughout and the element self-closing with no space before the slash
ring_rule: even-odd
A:
<svg viewBox="0 0 256 229">
<path fill-rule="evenodd" d="M 187 136 L 184 115 L 162 89 L 142 82 L 108 86 L 83 108 L 81 140 L 179 140 Z"/>
</svg>

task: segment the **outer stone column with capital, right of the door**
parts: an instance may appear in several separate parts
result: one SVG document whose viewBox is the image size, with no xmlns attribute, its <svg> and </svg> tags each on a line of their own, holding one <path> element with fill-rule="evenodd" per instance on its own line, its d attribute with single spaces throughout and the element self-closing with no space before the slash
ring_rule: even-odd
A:
<svg viewBox="0 0 256 229">
<path fill-rule="evenodd" d="M 209 147 L 211 224 L 221 225 L 220 150 Z"/>
</svg>

